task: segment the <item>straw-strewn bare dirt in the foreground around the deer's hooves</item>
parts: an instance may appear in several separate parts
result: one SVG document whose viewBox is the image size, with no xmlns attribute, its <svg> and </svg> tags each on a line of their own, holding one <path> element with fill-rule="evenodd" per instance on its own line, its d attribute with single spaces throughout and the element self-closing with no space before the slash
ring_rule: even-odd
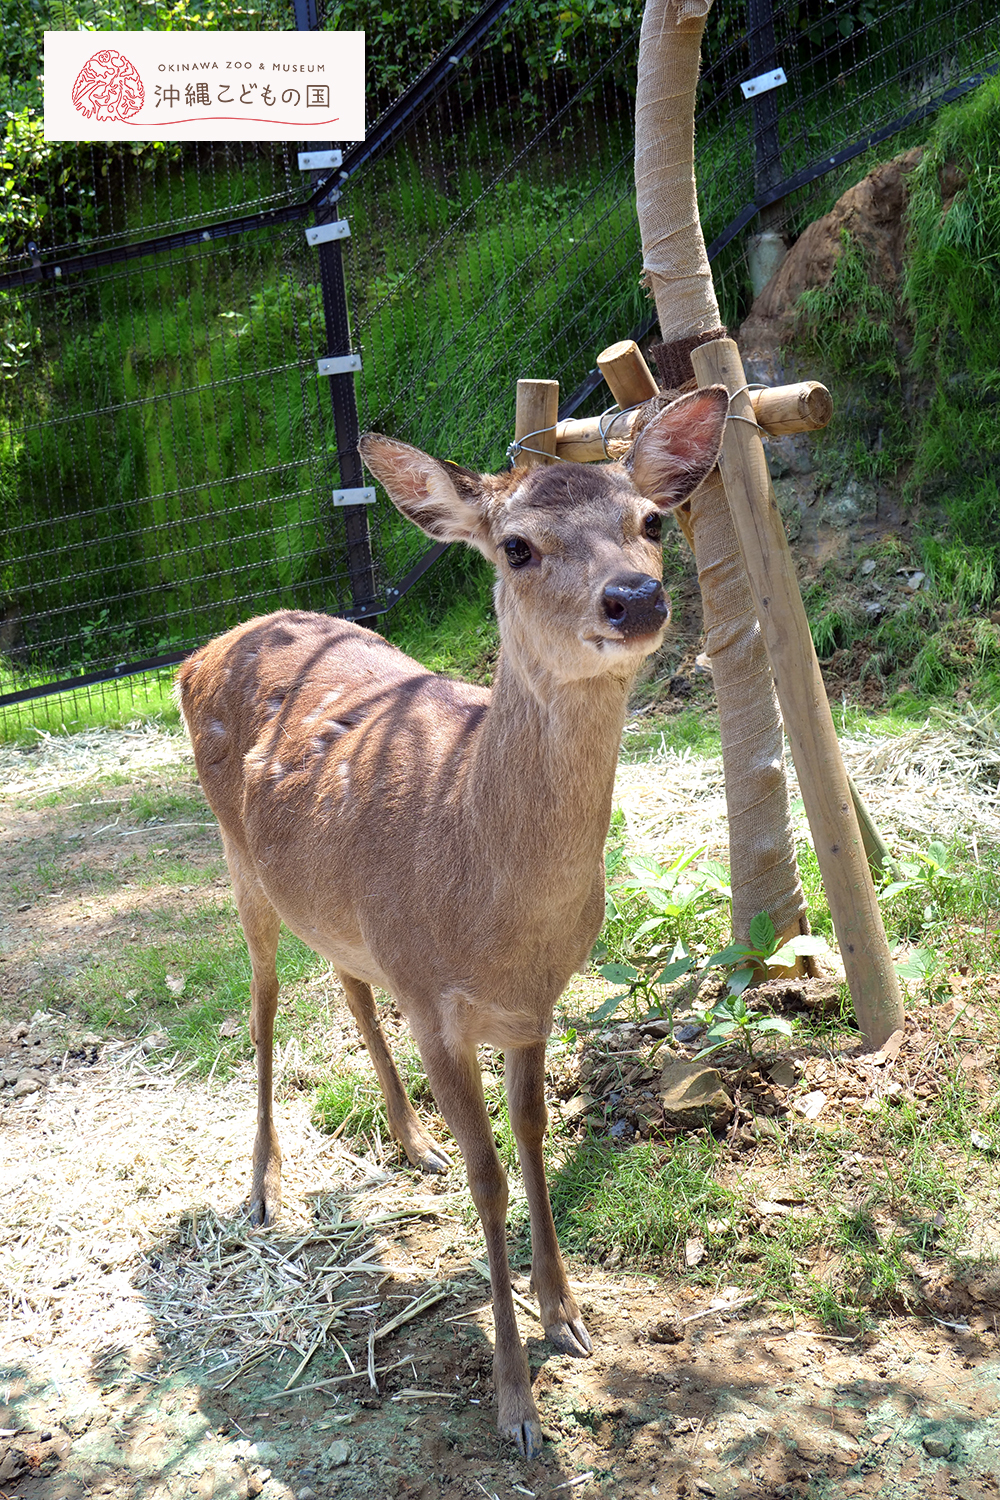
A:
<svg viewBox="0 0 1000 1500">
<path fill-rule="evenodd" d="M 597 1353 L 553 1354 L 522 1314 L 547 1443 L 519 1461 L 493 1431 L 489 1296 L 462 1185 L 435 1191 L 316 1138 L 300 1094 L 282 1116 L 286 1208 L 261 1234 L 240 1210 L 247 1078 L 211 1090 L 112 1050 L 6 1112 L 6 1191 L 31 1198 L 19 1256 L 16 1226 L 4 1246 L 6 1496 L 997 1494 L 996 1287 L 987 1302 L 967 1288 L 964 1308 L 942 1300 L 937 1320 L 925 1308 L 837 1336 L 756 1305 L 753 1286 L 714 1294 L 670 1268 L 577 1260 Z M 378 1269 L 333 1254 L 345 1220 Z M 39 1236 L 63 1242 L 46 1294 L 25 1264 Z M 268 1296 L 247 1262 L 276 1269 Z M 259 1320 L 256 1364 L 226 1322 L 232 1266 Z M 316 1323 L 291 1326 L 318 1270 L 336 1280 L 325 1323 L 354 1377 L 331 1338 L 310 1348 Z M 528 1302 L 523 1274 L 516 1288 Z M 370 1330 L 429 1292 L 433 1308 L 373 1346 L 372 1382 Z M 285 1390 L 295 1371 L 300 1394 Z"/>
</svg>

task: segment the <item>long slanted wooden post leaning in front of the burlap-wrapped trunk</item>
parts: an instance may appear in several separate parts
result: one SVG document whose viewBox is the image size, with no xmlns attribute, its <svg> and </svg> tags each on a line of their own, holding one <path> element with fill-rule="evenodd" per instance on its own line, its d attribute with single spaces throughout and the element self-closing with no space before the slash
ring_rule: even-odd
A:
<svg viewBox="0 0 1000 1500">
<path fill-rule="evenodd" d="M 771 658 L 816 856 L 858 1023 L 873 1050 L 903 1026 L 903 996 L 876 902 L 847 772 L 837 742 L 739 350 L 714 339 L 691 351 L 699 386 L 732 396 L 720 471 Z"/>
</svg>

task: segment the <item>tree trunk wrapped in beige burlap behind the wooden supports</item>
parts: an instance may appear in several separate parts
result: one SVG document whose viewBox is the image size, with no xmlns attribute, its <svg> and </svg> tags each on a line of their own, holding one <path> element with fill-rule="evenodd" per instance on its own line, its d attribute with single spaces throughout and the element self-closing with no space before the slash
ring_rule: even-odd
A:
<svg viewBox="0 0 1000 1500">
<path fill-rule="evenodd" d="M 676 384 L 693 378 L 690 345 L 723 332 L 694 183 L 694 92 L 709 9 L 711 0 L 648 0 L 639 42 L 636 196 L 643 266 L 664 345 L 675 345 L 669 352 Z M 678 519 L 694 550 L 718 699 L 733 934 L 745 940 L 751 920 L 766 912 L 787 938 L 807 930 L 807 922 L 784 734 L 718 470 Z"/>
</svg>

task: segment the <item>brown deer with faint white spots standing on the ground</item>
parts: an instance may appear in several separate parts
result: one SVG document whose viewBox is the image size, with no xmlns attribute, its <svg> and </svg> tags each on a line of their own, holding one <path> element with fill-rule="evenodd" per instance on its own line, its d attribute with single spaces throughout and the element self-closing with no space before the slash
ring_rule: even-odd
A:
<svg viewBox="0 0 1000 1500">
<path fill-rule="evenodd" d="M 729 396 L 681 396 L 609 465 L 478 474 L 367 434 L 360 453 L 427 536 L 496 568 L 492 690 L 438 676 L 367 627 L 280 610 L 189 657 L 178 698 L 250 954 L 258 1124 L 250 1220 L 273 1220 L 280 924 L 327 958 L 385 1100 L 427 1173 L 451 1158 L 409 1102 L 373 988 L 414 1035 L 465 1160 L 489 1254 L 498 1426 L 541 1452 L 514 1320 L 508 1185 L 478 1048 L 504 1053 L 546 1338 L 586 1356 L 543 1164 L 546 1040 L 604 916 L 604 842 L 630 687 L 663 642 L 661 526 L 715 466 Z"/>
</svg>

